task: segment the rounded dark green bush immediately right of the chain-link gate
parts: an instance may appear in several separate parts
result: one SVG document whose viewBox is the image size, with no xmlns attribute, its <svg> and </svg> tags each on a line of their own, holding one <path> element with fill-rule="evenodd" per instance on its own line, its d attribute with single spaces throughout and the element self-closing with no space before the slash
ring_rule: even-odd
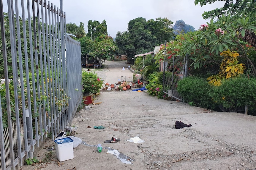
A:
<svg viewBox="0 0 256 170">
<path fill-rule="evenodd" d="M 182 95 L 185 102 L 193 106 L 202 108 L 214 109 L 216 103 L 212 101 L 210 93 L 212 91 L 211 85 L 206 79 L 198 77 L 185 77 L 178 81 L 177 90 Z"/>
</svg>

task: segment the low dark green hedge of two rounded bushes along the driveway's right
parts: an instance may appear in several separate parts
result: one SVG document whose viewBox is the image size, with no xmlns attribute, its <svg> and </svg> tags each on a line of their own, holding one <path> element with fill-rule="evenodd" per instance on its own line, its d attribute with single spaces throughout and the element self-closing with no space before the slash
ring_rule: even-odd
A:
<svg viewBox="0 0 256 170">
<path fill-rule="evenodd" d="M 206 79 L 185 77 L 177 90 L 192 106 L 244 113 L 248 105 L 248 114 L 256 115 L 256 78 L 233 77 L 220 86 L 211 86 Z"/>
</svg>

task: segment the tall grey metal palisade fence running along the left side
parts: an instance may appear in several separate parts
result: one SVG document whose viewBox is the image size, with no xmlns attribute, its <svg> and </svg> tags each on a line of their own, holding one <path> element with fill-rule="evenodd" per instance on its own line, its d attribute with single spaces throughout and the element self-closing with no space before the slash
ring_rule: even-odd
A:
<svg viewBox="0 0 256 170">
<path fill-rule="evenodd" d="M 49 1 L 0 4 L 0 169 L 9 170 L 72 122 L 82 101 L 81 51 Z"/>
</svg>

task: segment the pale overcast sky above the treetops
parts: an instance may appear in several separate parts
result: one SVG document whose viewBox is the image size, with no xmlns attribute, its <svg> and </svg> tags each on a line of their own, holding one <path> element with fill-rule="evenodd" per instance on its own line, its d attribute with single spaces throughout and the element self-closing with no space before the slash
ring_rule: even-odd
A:
<svg viewBox="0 0 256 170">
<path fill-rule="evenodd" d="M 4 8 L 7 0 L 4 0 Z M 26 1 L 26 0 L 25 0 Z M 50 0 L 59 7 L 59 0 Z M 66 12 L 66 22 L 79 25 L 83 22 L 87 32 L 89 20 L 100 23 L 105 19 L 108 25 L 108 35 L 115 37 L 118 31 L 127 31 L 128 22 L 137 17 L 156 19 L 167 17 L 169 20 L 183 20 L 196 30 L 209 20 L 203 20 L 202 14 L 215 8 L 223 7 L 224 2 L 200 7 L 194 0 L 63 0 L 63 10 Z M 4 9 L 6 12 L 7 9 Z"/>
</svg>

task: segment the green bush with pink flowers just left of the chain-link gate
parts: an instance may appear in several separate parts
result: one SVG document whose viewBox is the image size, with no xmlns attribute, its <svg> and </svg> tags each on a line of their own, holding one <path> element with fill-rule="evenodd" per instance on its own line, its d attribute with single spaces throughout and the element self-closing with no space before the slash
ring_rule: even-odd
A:
<svg viewBox="0 0 256 170">
<path fill-rule="evenodd" d="M 153 72 L 148 76 L 149 84 L 146 85 L 146 89 L 148 89 L 149 95 L 157 96 L 157 98 L 163 98 L 162 77 L 162 72 Z"/>
</svg>

